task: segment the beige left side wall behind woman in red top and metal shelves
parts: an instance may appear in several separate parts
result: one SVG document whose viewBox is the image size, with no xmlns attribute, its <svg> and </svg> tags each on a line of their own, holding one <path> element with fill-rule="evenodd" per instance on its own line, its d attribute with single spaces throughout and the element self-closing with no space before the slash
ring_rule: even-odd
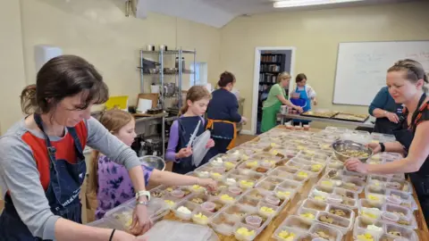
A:
<svg viewBox="0 0 429 241">
<path fill-rule="evenodd" d="M 147 44 L 164 44 L 171 49 L 196 48 L 197 61 L 208 62 L 208 77 L 218 75 L 220 29 L 155 13 L 149 14 L 147 20 L 127 18 L 124 4 L 117 0 L 0 1 L 1 33 L 5 34 L 6 30 L 13 33 L 0 39 L 1 87 L 4 89 L 0 91 L 2 99 L 3 91 L 7 92 L 8 99 L 14 98 L 2 106 L 4 111 L 12 110 L 11 116 L 5 117 L 2 109 L 2 130 L 21 117 L 17 97 L 24 79 L 27 84 L 36 81 L 36 45 L 60 46 L 63 54 L 86 58 L 103 74 L 111 95 L 130 96 L 131 104 L 139 94 L 138 50 Z M 191 61 L 190 57 L 186 58 L 186 62 Z M 6 78 L 3 68 L 7 71 Z"/>
</svg>

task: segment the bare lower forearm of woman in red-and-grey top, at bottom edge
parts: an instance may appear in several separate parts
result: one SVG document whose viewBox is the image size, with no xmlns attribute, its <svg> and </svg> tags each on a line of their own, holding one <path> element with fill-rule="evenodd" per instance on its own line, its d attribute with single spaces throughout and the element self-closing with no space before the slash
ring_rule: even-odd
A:
<svg viewBox="0 0 429 241">
<path fill-rule="evenodd" d="M 93 228 L 61 218 L 55 222 L 55 238 L 59 241 L 106 241 L 109 240 L 112 235 L 112 231 L 113 229 Z"/>
</svg>

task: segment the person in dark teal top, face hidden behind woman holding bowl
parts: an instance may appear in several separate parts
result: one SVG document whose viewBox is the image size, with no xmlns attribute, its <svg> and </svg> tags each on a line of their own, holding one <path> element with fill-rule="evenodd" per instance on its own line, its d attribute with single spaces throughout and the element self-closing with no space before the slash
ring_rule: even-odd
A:
<svg viewBox="0 0 429 241">
<path fill-rule="evenodd" d="M 376 118 L 374 132 L 393 134 L 400 127 L 402 104 L 397 104 L 389 94 L 388 87 L 382 87 L 369 105 L 369 114 Z"/>
</svg>

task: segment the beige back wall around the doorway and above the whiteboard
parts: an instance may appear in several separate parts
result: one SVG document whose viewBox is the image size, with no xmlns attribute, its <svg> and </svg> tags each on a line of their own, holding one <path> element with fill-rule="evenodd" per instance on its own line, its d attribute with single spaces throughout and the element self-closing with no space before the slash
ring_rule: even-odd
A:
<svg viewBox="0 0 429 241">
<path fill-rule="evenodd" d="M 250 119 L 255 47 L 295 46 L 294 73 L 305 72 L 323 108 L 366 112 L 366 107 L 332 104 L 340 42 L 429 39 L 429 3 L 391 4 L 242 17 L 221 31 L 221 68 L 237 78 Z M 213 80 L 214 81 L 214 80 Z M 250 129 L 250 124 L 244 127 Z"/>
</svg>

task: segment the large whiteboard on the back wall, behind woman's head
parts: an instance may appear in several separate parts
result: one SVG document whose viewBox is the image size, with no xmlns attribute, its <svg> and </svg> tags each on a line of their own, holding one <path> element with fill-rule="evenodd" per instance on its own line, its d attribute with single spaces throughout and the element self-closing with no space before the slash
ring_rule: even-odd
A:
<svg viewBox="0 0 429 241">
<path fill-rule="evenodd" d="M 371 104 L 386 86 L 387 70 L 405 58 L 429 72 L 429 41 L 340 43 L 333 104 Z"/>
</svg>

